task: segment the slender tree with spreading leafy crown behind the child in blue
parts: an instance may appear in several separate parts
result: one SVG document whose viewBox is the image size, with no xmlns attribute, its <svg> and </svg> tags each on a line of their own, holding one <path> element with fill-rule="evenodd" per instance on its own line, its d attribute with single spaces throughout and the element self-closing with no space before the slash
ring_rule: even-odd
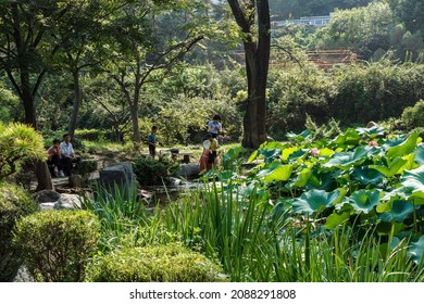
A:
<svg viewBox="0 0 424 304">
<path fill-rule="evenodd" d="M 144 86 L 162 80 L 173 65 L 203 39 L 204 27 L 198 25 L 204 8 L 202 1 L 164 1 L 155 5 L 136 1 L 123 7 L 105 28 L 114 39 L 108 46 L 112 48 L 109 50 L 112 55 L 104 62 L 104 69 L 119 84 L 128 103 L 134 142 L 141 142 L 138 116 Z M 180 23 L 171 27 L 161 24 L 161 17 L 170 14 Z M 165 28 L 172 30 L 167 35 L 158 33 Z"/>
</svg>

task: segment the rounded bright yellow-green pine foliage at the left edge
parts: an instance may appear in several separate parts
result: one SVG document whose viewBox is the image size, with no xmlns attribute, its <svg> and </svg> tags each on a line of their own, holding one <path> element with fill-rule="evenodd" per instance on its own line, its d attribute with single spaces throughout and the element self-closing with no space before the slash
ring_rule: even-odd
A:
<svg viewBox="0 0 424 304">
<path fill-rule="evenodd" d="M 45 160 L 47 152 L 42 137 L 34 128 L 0 123 L 0 180 L 18 172 L 25 163 Z"/>
</svg>

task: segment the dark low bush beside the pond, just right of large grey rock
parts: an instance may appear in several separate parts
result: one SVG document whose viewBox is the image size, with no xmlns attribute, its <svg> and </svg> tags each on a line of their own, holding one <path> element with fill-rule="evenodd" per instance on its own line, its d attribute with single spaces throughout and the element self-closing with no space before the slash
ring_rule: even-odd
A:
<svg viewBox="0 0 424 304">
<path fill-rule="evenodd" d="M 136 156 L 133 163 L 137 180 L 142 186 L 163 185 L 163 182 L 169 182 L 170 177 L 175 175 L 178 166 L 179 165 L 170 157 L 153 160 L 140 155 Z"/>
</svg>

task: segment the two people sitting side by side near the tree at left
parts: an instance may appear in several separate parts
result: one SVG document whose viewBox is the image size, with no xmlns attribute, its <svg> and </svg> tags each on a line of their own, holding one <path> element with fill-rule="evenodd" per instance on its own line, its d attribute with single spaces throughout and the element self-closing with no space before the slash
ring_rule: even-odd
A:
<svg viewBox="0 0 424 304">
<path fill-rule="evenodd" d="M 71 176 L 73 163 L 78 161 L 71 143 L 71 135 L 63 135 L 63 141 L 53 139 L 53 145 L 48 150 L 47 165 L 52 177 Z"/>
</svg>

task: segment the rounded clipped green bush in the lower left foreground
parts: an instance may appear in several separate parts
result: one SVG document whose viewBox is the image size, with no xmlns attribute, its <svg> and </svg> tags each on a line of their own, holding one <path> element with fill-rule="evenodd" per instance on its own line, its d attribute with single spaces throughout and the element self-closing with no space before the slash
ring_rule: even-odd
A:
<svg viewBox="0 0 424 304">
<path fill-rule="evenodd" d="M 83 281 L 99 240 L 100 223 L 88 211 L 46 211 L 21 218 L 13 243 L 37 281 Z"/>
</svg>

